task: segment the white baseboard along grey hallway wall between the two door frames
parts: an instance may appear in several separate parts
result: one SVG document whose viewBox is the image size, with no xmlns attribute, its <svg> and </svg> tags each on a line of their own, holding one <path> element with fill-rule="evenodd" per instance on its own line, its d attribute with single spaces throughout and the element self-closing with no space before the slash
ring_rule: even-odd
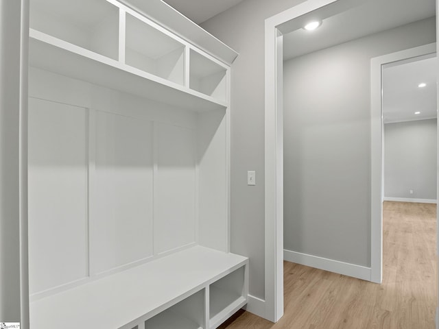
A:
<svg viewBox="0 0 439 329">
<path fill-rule="evenodd" d="M 361 280 L 370 281 L 370 267 L 343 263 L 338 260 L 302 254 L 300 252 L 292 252 L 290 250 L 283 251 L 283 259 L 292 263 L 315 267 L 334 273 L 343 274 L 344 276 L 352 276 Z"/>
</svg>

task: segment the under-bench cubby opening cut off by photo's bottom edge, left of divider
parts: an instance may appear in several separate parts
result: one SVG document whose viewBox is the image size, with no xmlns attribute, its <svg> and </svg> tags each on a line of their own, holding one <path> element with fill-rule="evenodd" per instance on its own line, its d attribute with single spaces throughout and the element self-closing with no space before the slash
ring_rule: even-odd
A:
<svg viewBox="0 0 439 329">
<path fill-rule="evenodd" d="M 204 289 L 145 321 L 145 329 L 204 329 Z"/>
</svg>

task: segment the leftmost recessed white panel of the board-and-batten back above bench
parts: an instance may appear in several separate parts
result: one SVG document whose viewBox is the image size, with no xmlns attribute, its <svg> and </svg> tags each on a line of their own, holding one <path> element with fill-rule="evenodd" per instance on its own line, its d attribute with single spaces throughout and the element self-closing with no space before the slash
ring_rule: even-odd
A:
<svg viewBox="0 0 439 329">
<path fill-rule="evenodd" d="M 88 275 L 88 110 L 29 98 L 30 293 Z"/>
</svg>

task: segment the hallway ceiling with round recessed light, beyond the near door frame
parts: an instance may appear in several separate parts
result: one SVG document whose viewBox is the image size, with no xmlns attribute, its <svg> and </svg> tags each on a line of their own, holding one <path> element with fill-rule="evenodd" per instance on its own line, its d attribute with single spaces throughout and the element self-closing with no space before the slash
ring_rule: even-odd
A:
<svg viewBox="0 0 439 329">
<path fill-rule="evenodd" d="M 435 0 L 367 0 L 340 14 L 324 18 L 329 8 L 310 16 L 322 20 L 314 31 L 296 29 L 284 34 L 284 59 L 288 60 L 342 42 L 361 38 L 436 14 Z"/>
</svg>

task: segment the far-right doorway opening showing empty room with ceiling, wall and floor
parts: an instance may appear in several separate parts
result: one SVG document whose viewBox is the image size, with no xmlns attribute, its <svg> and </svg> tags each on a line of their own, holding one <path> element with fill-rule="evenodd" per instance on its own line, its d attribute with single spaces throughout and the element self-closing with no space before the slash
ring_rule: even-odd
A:
<svg viewBox="0 0 439 329">
<path fill-rule="evenodd" d="M 436 285 L 436 62 L 426 53 L 381 65 L 383 284 Z"/>
</svg>

